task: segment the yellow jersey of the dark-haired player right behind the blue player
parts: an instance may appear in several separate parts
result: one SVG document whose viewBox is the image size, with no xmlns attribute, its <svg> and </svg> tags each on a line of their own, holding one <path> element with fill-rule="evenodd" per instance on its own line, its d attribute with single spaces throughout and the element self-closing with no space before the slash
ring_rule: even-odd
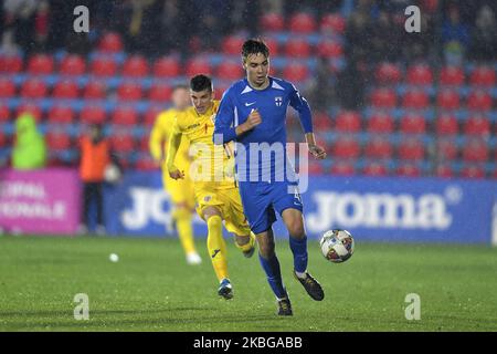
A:
<svg viewBox="0 0 497 354">
<path fill-rule="evenodd" d="M 231 145 L 214 145 L 212 142 L 218 107 L 219 101 L 213 101 L 212 107 L 205 114 L 199 114 L 194 107 L 189 107 L 178 113 L 173 129 L 182 134 L 181 142 L 189 142 L 193 158 L 190 171 L 195 184 L 215 183 L 215 188 L 233 188 L 233 149 Z"/>
</svg>

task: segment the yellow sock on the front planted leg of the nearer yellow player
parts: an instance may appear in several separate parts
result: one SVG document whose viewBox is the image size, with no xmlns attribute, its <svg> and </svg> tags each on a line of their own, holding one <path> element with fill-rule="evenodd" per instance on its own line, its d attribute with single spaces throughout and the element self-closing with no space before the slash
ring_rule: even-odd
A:
<svg viewBox="0 0 497 354">
<path fill-rule="evenodd" d="M 223 222 L 220 216 L 212 216 L 208 219 L 208 250 L 218 280 L 228 277 L 226 243 L 223 239 Z"/>
</svg>

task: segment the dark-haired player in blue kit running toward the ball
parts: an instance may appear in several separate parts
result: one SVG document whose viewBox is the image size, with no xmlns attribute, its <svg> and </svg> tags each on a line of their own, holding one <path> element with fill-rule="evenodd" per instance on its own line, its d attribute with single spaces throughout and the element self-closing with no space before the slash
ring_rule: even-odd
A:
<svg viewBox="0 0 497 354">
<path fill-rule="evenodd" d="M 236 176 L 245 216 L 257 237 L 260 261 L 277 298 L 278 314 L 292 315 L 292 304 L 275 253 L 272 225 L 276 212 L 283 219 L 294 254 L 294 275 L 316 301 L 325 296 L 321 285 L 307 272 L 307 237 L 298 184 L 286 155 L 286 110 L 290 105 L 304 127 L 310 154 L 326 152 L 313 133 L 307 101 L 289 82 L 268 75 L 269 51 L 261 40 L 242 46 L 246 77 L 223 95 L 215 116 L 214 144 L 236 142 Z"/>
</svg>

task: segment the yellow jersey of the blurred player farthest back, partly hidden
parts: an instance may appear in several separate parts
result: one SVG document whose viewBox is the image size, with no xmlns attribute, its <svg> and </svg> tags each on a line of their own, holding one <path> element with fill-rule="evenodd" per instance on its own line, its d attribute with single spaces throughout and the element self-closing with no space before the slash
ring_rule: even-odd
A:
<svg viewBox="0 0 497 354">
<path fill-rule="evenodd" d="M 179 113 L 180 113 L 179 111 L 170 108 L 168 111 L 160 113 L 157 116 L 156 122 L 154 123 L 154 127 L 150 132 L 149 148 L 151 156 L 157 162 L 159 162 L 162 158 L 162 152 L 163 157 L 166 157 L 168 137 L 175 124 L 175 118 Z M 181 139 L 181 144 L 178 148 L 178 154 L 176 155 L 175 160 L 176 166 L 180 170 L 184 170 L 186 173 L 190 169 L 190 158 L 188 155 L 189 146 L 190 145 L 188 143 L 188 139 Z M 166 173 L 167 170 L 166 158 L 163 158 L 162 162 L 162 169 Z"/>
</svg>

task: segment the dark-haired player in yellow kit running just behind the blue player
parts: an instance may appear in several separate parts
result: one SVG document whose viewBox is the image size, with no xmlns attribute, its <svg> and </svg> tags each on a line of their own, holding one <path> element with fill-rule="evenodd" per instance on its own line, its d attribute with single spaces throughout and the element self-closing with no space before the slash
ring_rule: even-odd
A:
<svg viewBox="0 0 497 354">
<path fill-rule="evenodd" d="M 235 235 L 235 244 L 245 257 L 254 253 L 255 237 L 243 212 L 242 200 L 234 179 L 234 157 L 225 145 L 214 145 L 213 117 L 219 101 L 213 100 L 212 81 L 205 75 L 197 75 L 190 81 L 190 96 L 193 103 L 176 116 L 169 137 L 167 168 L 173 179 L 186 177 L 186 170 L 176 165 L 178 148 L 183 139 L 190 143 L 193 162 L 190 176 L 197 200 L 197 212 L 208 225 L 208 250 L 215 275 L 220 282 L 218 294 L 233 298 L 233 289 L 228 274 L 226 244 L 222 236 L 222 225 Z"/>
</svg>

